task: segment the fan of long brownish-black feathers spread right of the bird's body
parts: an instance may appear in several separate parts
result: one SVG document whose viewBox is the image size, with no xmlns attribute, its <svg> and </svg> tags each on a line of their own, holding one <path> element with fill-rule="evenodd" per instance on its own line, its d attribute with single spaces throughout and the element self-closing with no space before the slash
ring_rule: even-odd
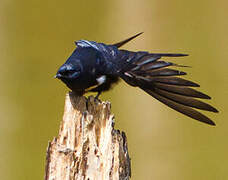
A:
<svg viewBox="0 0 228 180">
<path fill-rule="evenodd" d="M 128 51 L 129 57 L 131 53 L 133 52 Z M 121 78 L 124 81 L 132 86 L 141 88 L 155 99 L 182 114 L 195 120 L 215 125 L 211 119 L 195 110 L 218 112 L 211 105 L 199 100 L 211 98 L 192 88 L 199 87 L 198 84 L 182 79 L 181 77 L 186 75 L 185 72 L 170 68 L 185 66 L 160 60 L 161 57 L 180 57 L 186 56 L 185 54 L 137 53 L 134 54 L 134 58 L 128 58 L 130 60 L 127 60 L 126 62 L 128 63 L 122 68 Z"/>
</svg>

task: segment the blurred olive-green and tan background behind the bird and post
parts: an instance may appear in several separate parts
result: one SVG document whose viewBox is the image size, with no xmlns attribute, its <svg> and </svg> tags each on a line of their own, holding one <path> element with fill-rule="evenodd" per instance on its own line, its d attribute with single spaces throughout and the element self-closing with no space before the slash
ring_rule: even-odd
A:
<svg viewBox="0 0 228 180">
<path fill-rule="evenodd" d="M 58 133 L 68 89 L 53 78 L 88 39 L 114 43 L 145 33 L 129 50 L 189 53 L 188 79 L 213 97 L 209 127 L 121 82 L 101 96 L 126 132 L 132 179 L 228 179 L 228 2 L 225 0 L 0 2 L 0 174 L 43 179 L 49 140 Z"/>
</svg>

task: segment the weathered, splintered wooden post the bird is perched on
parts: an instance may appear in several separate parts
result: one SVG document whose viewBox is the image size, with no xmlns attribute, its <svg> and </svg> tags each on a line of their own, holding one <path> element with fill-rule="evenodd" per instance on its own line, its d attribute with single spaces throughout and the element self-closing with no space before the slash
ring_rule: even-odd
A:
<svg viewBox="0 0 228 180">
<path fill-rule="evenodd" d="M 114 129 L 109 102 L 69 93 L 59 135 L 49 143 L 45 180 L 128 180 L 124 132 Z"/>
</svg>

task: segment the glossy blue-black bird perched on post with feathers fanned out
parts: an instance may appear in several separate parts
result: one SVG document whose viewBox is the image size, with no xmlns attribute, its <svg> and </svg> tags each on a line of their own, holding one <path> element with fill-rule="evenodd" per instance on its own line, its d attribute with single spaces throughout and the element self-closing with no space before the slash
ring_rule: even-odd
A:
<svg viewBox="0 0 228 180">
<path fill-rule="evenodd" d="M 186 75 L 185 72 L 170 68 L 186 66 L 161 60 L 162 57 L 182 57 L 187 54 L 119 49 L 140 34 L 142 33 L 111 45 L 87 40 L 77 41 L 77 48 L 59 68 L 55 77 L 74 92 L 97 92 L 96 97 L 109 90 L 121 78 L 170 108 L 198 121 L 215 125 L 211 119 L 195 110 L 218 112 L 211 105 L 198 100 L 211 98 L 191 88 L 199 87 L 198 84 L 180 78 Z"/>
</svg>

